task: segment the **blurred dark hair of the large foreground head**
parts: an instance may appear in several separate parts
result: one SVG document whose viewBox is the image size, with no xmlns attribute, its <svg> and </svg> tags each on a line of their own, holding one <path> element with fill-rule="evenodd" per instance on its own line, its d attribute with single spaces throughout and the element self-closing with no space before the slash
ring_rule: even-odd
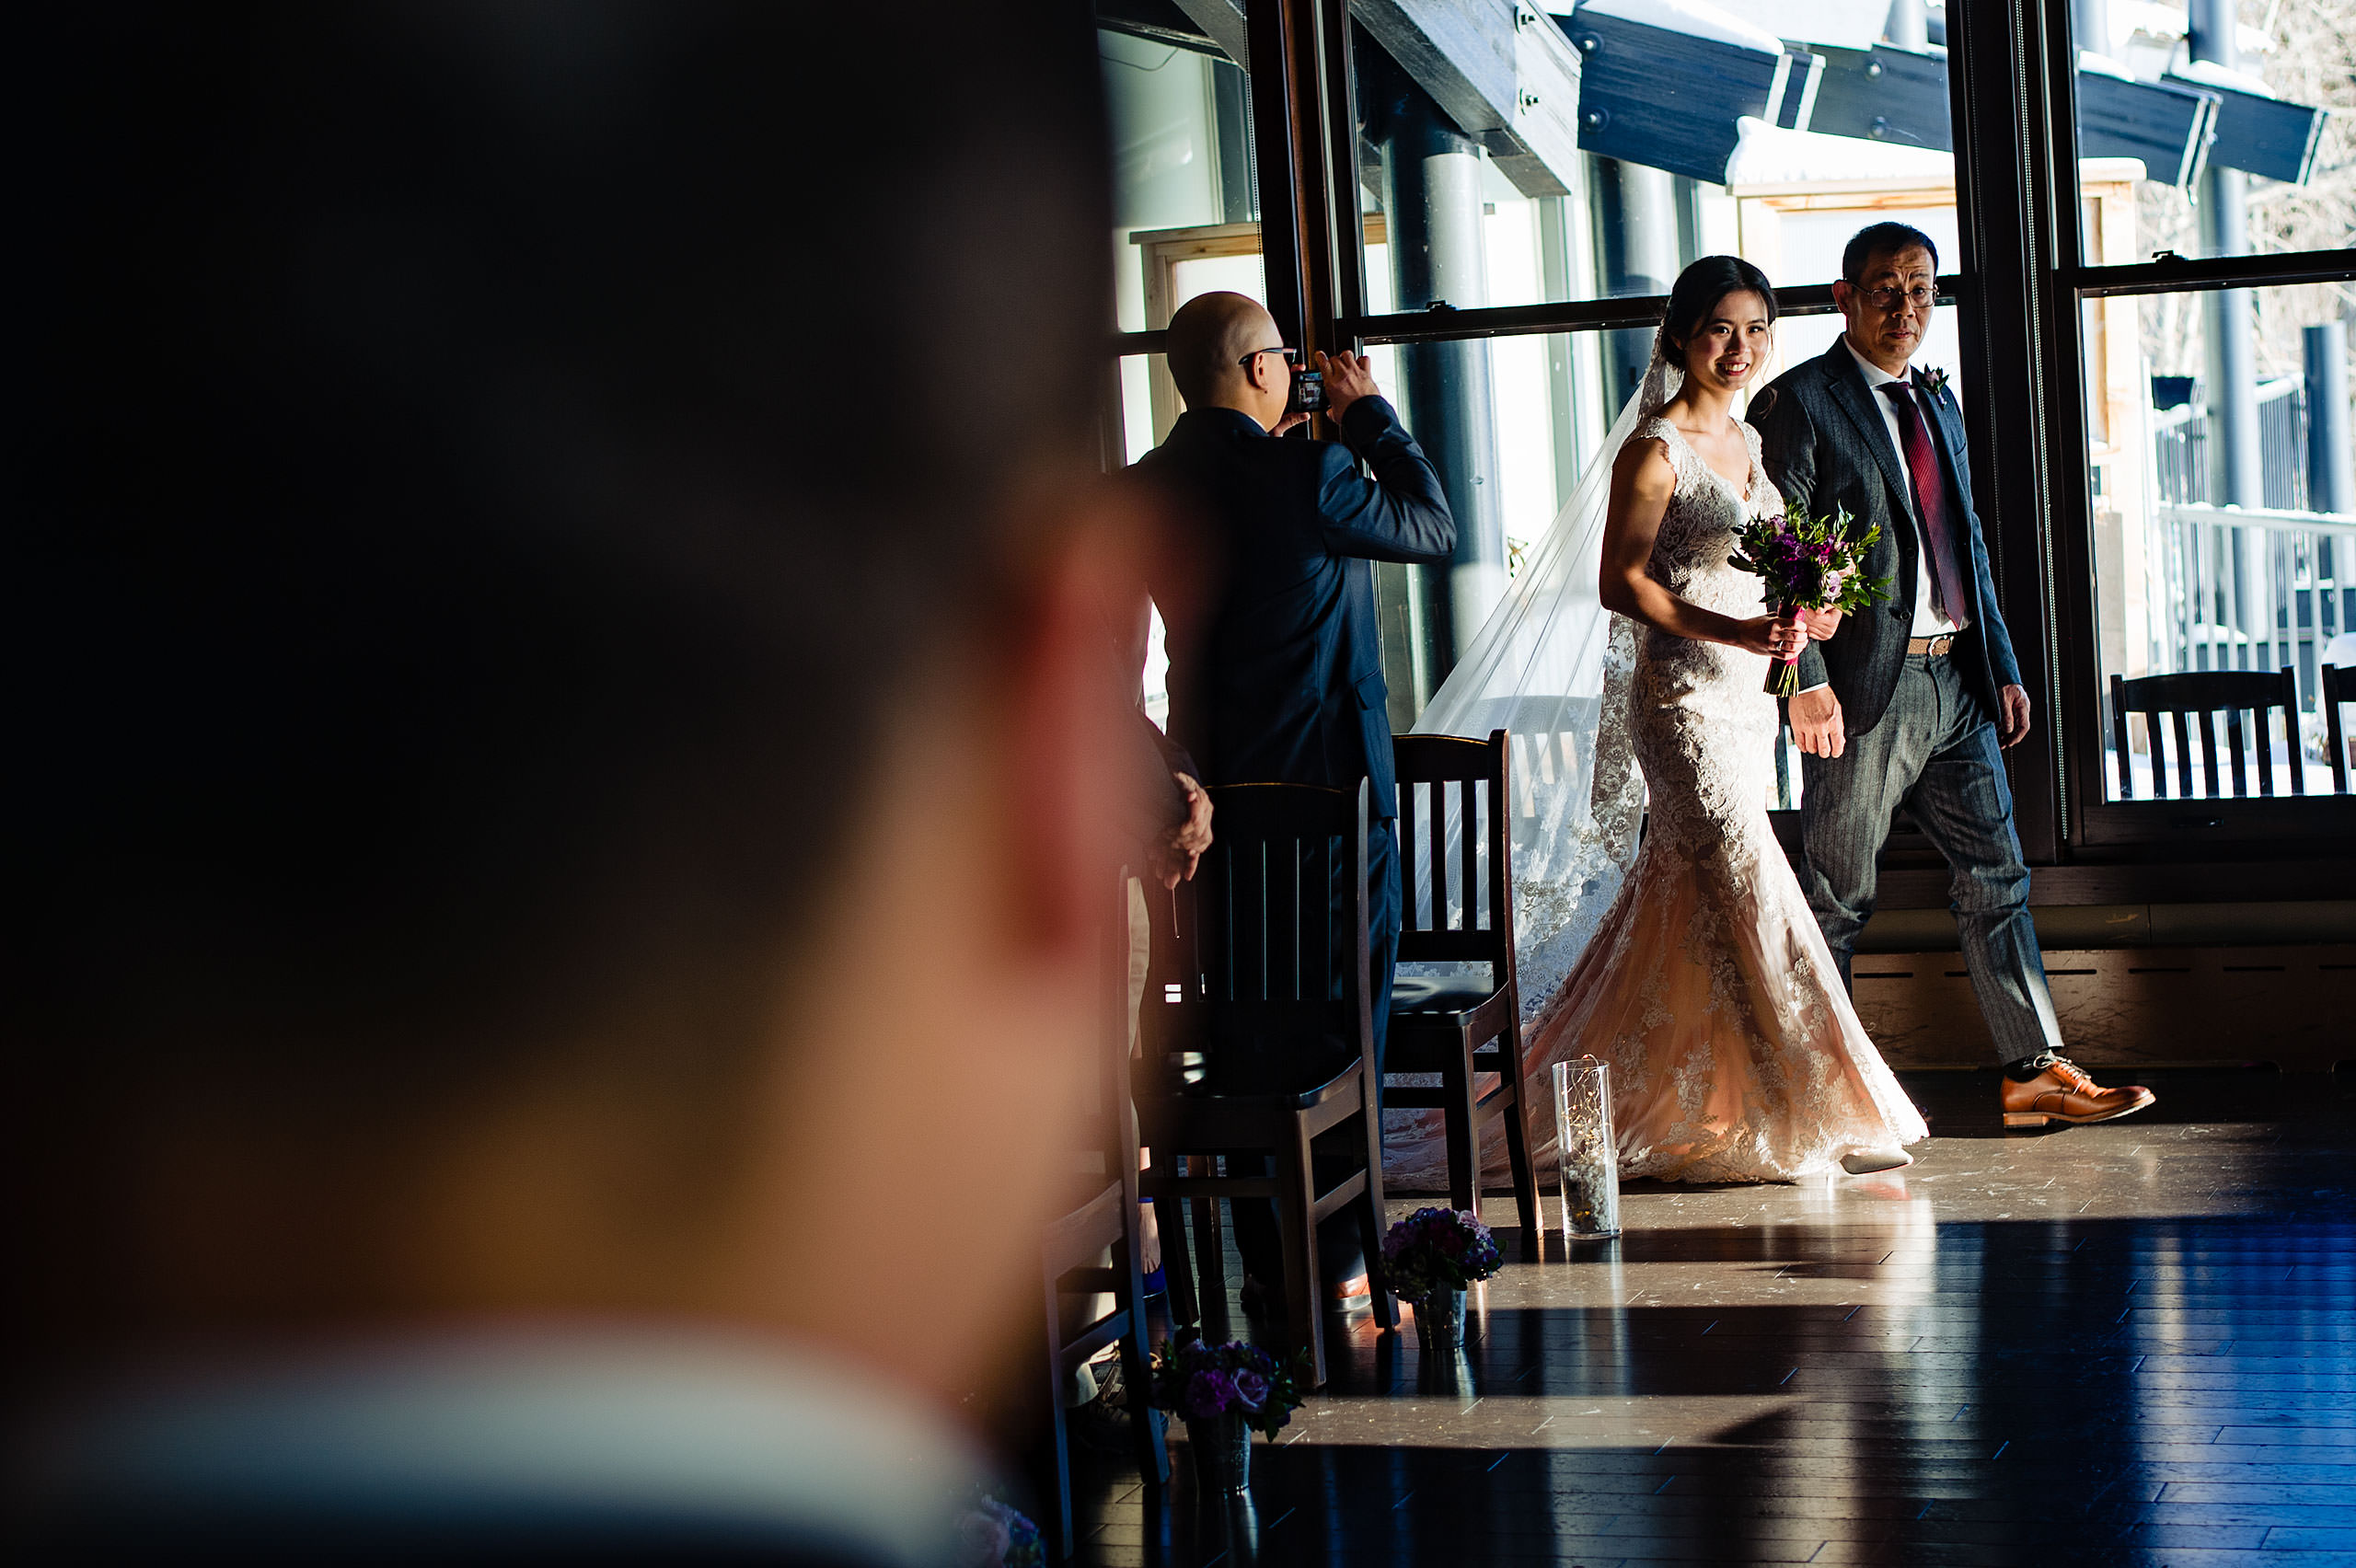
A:
<svg viewBox="0 0 2356 1568">
<path fill-rule="evenodd" d="M 19 1158 L 398 1125 L 650 1012 L 683 1085 L 756 1059 L 1018 490 L 1098 459 L 1093 35 L 982 9 L 26 19 Z"/>
</svg>

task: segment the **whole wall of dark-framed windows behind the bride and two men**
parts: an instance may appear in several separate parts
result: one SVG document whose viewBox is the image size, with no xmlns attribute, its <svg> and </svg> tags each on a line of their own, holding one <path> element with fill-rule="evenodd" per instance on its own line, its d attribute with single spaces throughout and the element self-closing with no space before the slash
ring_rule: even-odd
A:
<svg viewBox="0 0 2356 1568">
<path fill-rule="evenodd" d="M 1397 727 L 1597 459 L 1677 271 L 1732 252 L 1774 280 L 1774 374 L 1831 346 L 1842 245 L 1897 217 L 1939 245 L 1920 360 L 1963 396 L 2038 704 L 2010 753 L 2031 859 L 2356 826 L 2325 699 L 2328 671 L 2356 671 L 2356 0 L 1098 0 L 1098 19 L 1133 334 L 1119 445 L 1176 419 L 1154 332 L 1206 287 L 1371 356 L 1461 527 L 1449 567 L 1378 572 Z M 1282 137 L 1256 134 L 1279 113 Z M 2186 720 L 2186 789 L 2153 704 L 2212 673 L 2288 697 L 2215 713 L 2208 749 Z"/>
</svg>

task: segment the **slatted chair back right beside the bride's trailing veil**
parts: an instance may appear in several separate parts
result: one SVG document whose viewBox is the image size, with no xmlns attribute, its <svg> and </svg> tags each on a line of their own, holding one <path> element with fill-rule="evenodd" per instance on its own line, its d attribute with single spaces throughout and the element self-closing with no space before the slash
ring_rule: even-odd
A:
<svg viewBox="0 0 2356 1568">
<path fill-rule="evenodd" d="M 1548 742 L 1555 737 L 1546 737 Z M 1562 744 L 1569 744 L 1567 739 Z M 1513 737 L 1399 735 L 1399 961 L 1513 975 Z M 1560 758 L 1553 758 L 1560 760 Z"/>
</svg>

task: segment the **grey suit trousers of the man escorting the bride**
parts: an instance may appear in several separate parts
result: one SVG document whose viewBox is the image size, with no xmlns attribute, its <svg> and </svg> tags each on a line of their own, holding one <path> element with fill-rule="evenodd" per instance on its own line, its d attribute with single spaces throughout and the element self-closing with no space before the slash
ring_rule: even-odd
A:
<svg viewBox="0 0 2356 1568">
<path fill-rule="evenodd" d="M 1857 932 L 1873 916 L 1875 859 L 1899 805 L 1946 857 L 1963 965 L 1998 1062 L 2062 1050 L 2062 1026 L 2045 989 L 2045 958 L 2029 921 L 2029 866 L 2012 831 L 1996 725 L 1946 657 L 1911 655 L 1890 711 L 1852 735 L 1838 758 L 1800 758 L 1800 831 L 1807 866 L 1800 885 L 1840 963 L 1842 984 Z"/>
</svg>

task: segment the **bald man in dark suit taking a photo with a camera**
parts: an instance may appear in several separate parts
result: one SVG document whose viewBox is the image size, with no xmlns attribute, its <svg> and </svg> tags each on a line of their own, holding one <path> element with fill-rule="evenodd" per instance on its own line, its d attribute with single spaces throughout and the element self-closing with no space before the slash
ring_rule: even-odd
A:
<svg viewBox="0 0 2356 1568">
<path fill-rule="evenodd" d="M 1197 294 L 1171 320 L 1171 379 L 1187 412 L 1138 473 L 1199 530 L 1199 574 L 1157 574 L 1150 586 L 1169 626 L 1171 739 L 1194 753 L 1206 784 L 1374 782 L 1381 819 L 1366 838 L 1366 906 L 1381 1055 L 1399 855 L 1390 687 L 1366 563 L 1447 565 L 1456 518 L 1430 459 L 1355 353 L 1317 356 L 1343 440 L 1272 440 L 1305 419 L 1286 412 L 1293 358 L 1277 323 L 1244 294 Z M 1272 1210 L 1239 1203 L 1235 1238 L 1260 1283 L 1253 1297 L 1268 1300 L 1282 1278 Z M 1352 1241 L 1355 1231 L 1336 1234 L 1319 1253 L 1348 1255 Z"/>
</svg>

